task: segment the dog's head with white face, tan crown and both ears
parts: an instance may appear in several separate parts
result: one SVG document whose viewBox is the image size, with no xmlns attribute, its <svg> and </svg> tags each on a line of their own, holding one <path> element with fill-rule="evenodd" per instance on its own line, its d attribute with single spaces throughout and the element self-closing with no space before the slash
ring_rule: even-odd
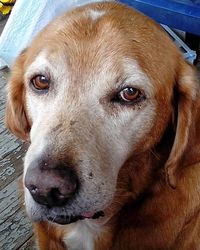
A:
<svg viewBox="0 0 200 250">
<path fill-rule="evenodd" d="M 116 196 L 120 170 L 158 145 L 171 123 L 163 170 L 174 186 L 196 96 L 192 67 L 142 14 L 98 3 L 56 19 L 19 56 L 8 85 L 7 125 L 31 142 L 29 215 L 61 224 L 100 216 Z"/>
</svg>

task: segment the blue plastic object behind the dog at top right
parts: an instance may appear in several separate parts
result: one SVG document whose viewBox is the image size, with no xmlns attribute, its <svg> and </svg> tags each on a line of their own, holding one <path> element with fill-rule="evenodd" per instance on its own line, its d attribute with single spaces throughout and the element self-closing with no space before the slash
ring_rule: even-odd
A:
<svg viewBox="0 0 200 250">
<path fill-rule="evenodd" d="M 200 35 L 200 0 L 120 0 L 159 23 Z"/>
</svg>

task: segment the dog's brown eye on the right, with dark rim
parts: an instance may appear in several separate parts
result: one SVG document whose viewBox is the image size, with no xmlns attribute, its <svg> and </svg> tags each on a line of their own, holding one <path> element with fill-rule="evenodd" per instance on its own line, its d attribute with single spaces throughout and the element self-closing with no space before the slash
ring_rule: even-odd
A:
<svg viewBox="0 0 200 250">
<path fill-rule="evenodd" d="M 125 102 L 136 101 L 141 95 L 140 90 L 132 87 L 126 87 L 118 93 L 119 98 Z"/>
</svg>

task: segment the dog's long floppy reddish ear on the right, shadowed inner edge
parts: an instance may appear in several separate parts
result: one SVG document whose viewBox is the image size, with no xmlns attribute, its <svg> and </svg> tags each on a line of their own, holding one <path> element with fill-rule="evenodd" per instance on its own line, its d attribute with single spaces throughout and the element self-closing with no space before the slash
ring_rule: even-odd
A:
<svg viewBox="0 0 200 250">
<path fill-rule="evenodd" d="M 173 188 L 176 187 L 178 165 L 189 165 L 200 158 L 200 151 L 196 150 L 200 142 L 199 86 L 195 70 L 184 61 L 177 70 L 175 89 L 175 139 L 165 164 L 166 179 Z"/>
</svg>

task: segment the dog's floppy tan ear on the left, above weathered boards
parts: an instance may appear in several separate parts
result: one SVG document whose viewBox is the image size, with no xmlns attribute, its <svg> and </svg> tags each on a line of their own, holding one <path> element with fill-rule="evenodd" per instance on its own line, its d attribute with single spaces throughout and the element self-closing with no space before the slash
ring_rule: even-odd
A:
<svg viewBox="0 0 200 250">
<path fill-rule="evenodd" d="M 7 86 L 5 123 L 9 130 L 23 140 L 29 139 L 30 123 L 25 108 L 24 62 L 26 50 L 22 51 L 13 66 Z"/>
</svg>

